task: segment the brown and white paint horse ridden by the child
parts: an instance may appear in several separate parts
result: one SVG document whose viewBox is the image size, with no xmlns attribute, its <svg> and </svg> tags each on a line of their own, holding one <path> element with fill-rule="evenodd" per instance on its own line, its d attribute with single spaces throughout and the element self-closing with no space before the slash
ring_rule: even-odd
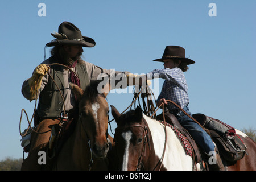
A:
<svg viewBox="0 0 256 182">
<path fill-rule="evenodd" d="M 140 107 L 120 114 L 114 106 L 112 115 L 117 122 L 113 151 L 115 166 L 121 170 L 201 170 L 201 164 L 193 163 L 183 144 L 171 127 L 166 127 L 143 114 Z M 241 132 L 239 132 L 241 134 Z M 229 164 L 228 170 L 255 170 L 256 144 L 246 135 L 247 152 L 241 160 Z M 167 140 L 166 140 L 167 139 Z M 195 166 L 196 165 L 196 166 Z"/>
</svg>

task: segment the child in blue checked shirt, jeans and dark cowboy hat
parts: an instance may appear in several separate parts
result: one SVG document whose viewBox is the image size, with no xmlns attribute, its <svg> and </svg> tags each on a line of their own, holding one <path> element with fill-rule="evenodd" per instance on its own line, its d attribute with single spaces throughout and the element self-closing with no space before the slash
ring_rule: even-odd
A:
<svg viewBox="0 0 256 182">
<path fill-rule="evenodd" d="M 188 85 L 183 72 L 187 71 L 188 65 L 194 64 L 195 61 L 186 58 L 185 49 L 180 46 L 166 46 L 162 58 L 153 61 L 164 63 L 164 68 L 155 69 L 146 74 L 147 79 L 163 78 L 165 80 L 162 86 L 162 91 L 157 99 L 158 107 L 163 102 L 168 112 L 176 116 L 180 124 L 188 130 L 193 139 L 207 155 L 209 155 L 209 152 L 211 151 L 216 151 L 216 146 L 213 144 L 212 139 L 205 130 L 182 111 L 177 109 L 175 105 L 166 101 L 171 100 L 176 102 L 176 104 L 191 115 L 188 107 Z M 217 165 L 213 165 L 213 169 L 224 169 L 220 156 L 218 155 Z"/>
</svg>

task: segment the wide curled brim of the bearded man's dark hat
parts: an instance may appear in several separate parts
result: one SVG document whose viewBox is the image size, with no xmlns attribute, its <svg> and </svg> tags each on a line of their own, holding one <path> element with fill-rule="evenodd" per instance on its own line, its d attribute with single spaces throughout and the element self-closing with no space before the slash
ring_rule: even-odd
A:
<svg viewBox="0 0 256 182">
<path fill-rule="evenodd" d="M 47 43 L 47 47 L 58 46 L 58 45 L 74 45 L 82 47 L 94 47 L 96 42 L 92 38 L 82 36 L 83 40 L 70 40 L 70 39 L 54 39 Z"/>
</svg>

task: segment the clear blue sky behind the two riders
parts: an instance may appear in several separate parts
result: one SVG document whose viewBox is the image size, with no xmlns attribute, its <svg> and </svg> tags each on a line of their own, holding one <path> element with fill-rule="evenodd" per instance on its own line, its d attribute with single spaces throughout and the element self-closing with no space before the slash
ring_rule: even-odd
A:
<svg viewBox="0 0 256 182">
<path fill-rule="evenodd" d="M 208 15 L 212 2 L 216 17 Z M 46 5 L 45 17 L 38 16 L 39 3 Z M 185 73 L 191 112 L 240 130 L 255 129 L 255 5 L 254 0 L 1 1 L 0 160 L 22 158 L 20 111 L 26 109 L 31 118 L 35 102 L 20 89 L 44 60 L 44 46 L 63 21 L 96 41 L 84 48 L 84 60 L 106 69 L 140 75 L 163 68 L 152 60 L 162 57 L 166 46 L 184 47 L 196 61 Z M 160 92 L 162 83 L 154 89 Z M 108 102 L 123 111 L 132 98 L 110 93 Z M 23 117 L 22 130 L 26 127 Z"/>
</svg>

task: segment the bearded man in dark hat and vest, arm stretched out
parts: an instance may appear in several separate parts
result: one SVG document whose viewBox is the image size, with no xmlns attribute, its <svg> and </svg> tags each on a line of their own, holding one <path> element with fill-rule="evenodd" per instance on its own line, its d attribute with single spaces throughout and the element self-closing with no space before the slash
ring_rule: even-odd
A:
<svg viewBox="0 0 256 182">
<path fill-rule="evenodd" d="M 52 56 L 36 67 L 32 77 L 24 81 L 22 85 L 22 94 L 25 98 L 32 101 L 39 97 L 36 113 L 39 117 L 39 123 L 35 123 L 35 125 L 38 125 L 38 133 L 42 133 L 35 134 L 32 139 L 27 159 L 31 159 L 34 164 L 28 169 L 40 169 L 38 154 L 33 151 L 42 150 L 49 142 L 51 132 L 46 132 L 49 130 L 49 126 L 73 117 L 76 98 L 69 88 L 69 83 L 73 82 L 85 90 L 91 81 L 99 80 L 98 77 L 103 73 L 109 77 L 111 74 L 113 76 L 113 71 L 102 69 L 81 59 L 82 52 L 84 52 L 82 47 L 94 47 L 96 43 L 92 38 L 82 36 L 81 31 L 74 24 L 63 22 L 59 26 L 58 33 L 55 32 L 51 35 L 56 39 L 47 43 L 46 46 L 54 46 L 51 50 Z M 57 65 L 58 63 L 67 65 L 73 71 Z M 50 68 L 48 64 L 55 65 Z M 114 75 L 120 74 L 121 76 L 118 76 L 120 78 L 126 77 L 128 73 L 115 71 Z"/>
</svg>

